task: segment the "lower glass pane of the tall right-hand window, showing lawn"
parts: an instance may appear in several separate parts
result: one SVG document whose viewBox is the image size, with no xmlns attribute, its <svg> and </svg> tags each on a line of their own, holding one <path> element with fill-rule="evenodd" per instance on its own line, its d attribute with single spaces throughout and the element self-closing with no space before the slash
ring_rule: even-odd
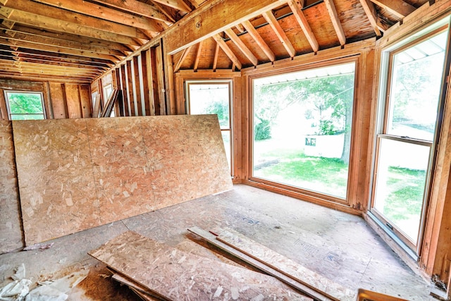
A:
<svg viewBox="0 0 451 301">
<path fill-rule="evenodd" d="M 429 147 L 382 139 L 374 208 L 414 243 L 421 221 Z"/>
</svg>

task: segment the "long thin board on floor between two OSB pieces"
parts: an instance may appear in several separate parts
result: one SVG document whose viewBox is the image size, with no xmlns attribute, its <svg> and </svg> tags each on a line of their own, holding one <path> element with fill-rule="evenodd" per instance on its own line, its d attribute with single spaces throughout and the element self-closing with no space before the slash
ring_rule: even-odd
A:
<svg viewBox="0 0 451 301">
<path fill-rule="evenodd" d="M 278 278 L 278 280 L 282 281 L 285 284 L 290 285 L 295 290 L 298 290 L 300 293 L 308 295 L 309 297 L 313 298 L 314 300 L 321 300 L 321 301 L 332 300 L 332 299 L 325 297 L 325 296 L 321 295 L 320 293 L 316 292 L 316 290 L 312 290 L 308 286 L 306 286 L 302 283 L 299 283 L 298 281 L 295 281 L 294 279 L 286 276 L 285 274 L 280 273 L 276 269 L 271 268 L 271 266 L 262 264 L 257 259 L 254 259 L 254 258 L 250 257 L 249 255 L 247 255 L 243 252 L 240 252 L 239 250 L 236 250 L 233 247 L 230 247 L 230 245 L 227 245 L 224 242 L 216 240 L 216 235 L 211 234 L 208 231 L 205 231 L 196 226 L 188 228 L 187 230 L 190 231 L 191 233 L 198 235 L 200 238 L 206 240 L 207 242 L 211 243 L 211 245 L 214 245 L 215 247 L 218 247 L 219 249 L 227 252 L 228 254 L 232 254 L 234 257 L 241 259 L 243 262 L 246 262 L 247 264 L 254 266 L 255 268 L 259 269 L 260 271 L 263 271 L 264 273 L 266 273 L 270 276 Z M 312 300 L 312 299 L 310 299 L 310 300 Z"/>
</svg>

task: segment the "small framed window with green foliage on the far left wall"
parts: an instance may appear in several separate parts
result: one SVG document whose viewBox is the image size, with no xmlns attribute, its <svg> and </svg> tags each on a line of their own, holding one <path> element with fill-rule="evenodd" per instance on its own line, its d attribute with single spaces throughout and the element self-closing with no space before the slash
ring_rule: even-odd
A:
<svg viewBox="0 0 451 301">
<path fill-rule="evenodd" d="M 5 92 L 10 120 L 45 119 L 44 102 L 40 92 Z"/>
</svg>

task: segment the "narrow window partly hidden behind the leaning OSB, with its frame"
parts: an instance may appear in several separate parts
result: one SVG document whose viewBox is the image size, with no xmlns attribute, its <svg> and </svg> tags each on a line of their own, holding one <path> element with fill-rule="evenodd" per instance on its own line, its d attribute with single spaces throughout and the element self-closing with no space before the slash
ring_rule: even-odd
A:
<svg viewBox="0 0 451 301">
<path fill-rule="evenodd" d="M 231 96 L 232 82 L 230 80 L 187 82 L 188 113 L 192 115 L 216 114 L 218 116 L 230 173 L 233 174 Z"/>
</svg>

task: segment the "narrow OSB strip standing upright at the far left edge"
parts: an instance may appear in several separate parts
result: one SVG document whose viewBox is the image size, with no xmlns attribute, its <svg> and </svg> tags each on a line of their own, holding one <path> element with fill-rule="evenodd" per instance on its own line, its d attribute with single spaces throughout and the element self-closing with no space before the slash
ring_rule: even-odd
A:
<svg viewBox="0 0 451 301">
<path fill-rule="evenodd" d="M 0 254 L 23 247 L 10 121 L 0 121 Z"/>
</svg>

